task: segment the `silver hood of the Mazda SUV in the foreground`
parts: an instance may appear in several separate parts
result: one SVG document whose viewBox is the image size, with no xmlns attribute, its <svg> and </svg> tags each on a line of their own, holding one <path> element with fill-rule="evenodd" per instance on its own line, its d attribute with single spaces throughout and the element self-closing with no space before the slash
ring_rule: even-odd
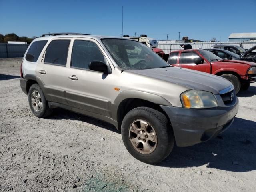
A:
<svg viewBox="0 0 256 192">
<path fill-rule="evenodd" d="M 220 90 L 232 86 L 231 82 L 222 77 L 179 67 L 129 70 L 129 72 L 175 83 L 188 89 L 209 91 L 213 94 L 219 94 Z"/>
</svg>

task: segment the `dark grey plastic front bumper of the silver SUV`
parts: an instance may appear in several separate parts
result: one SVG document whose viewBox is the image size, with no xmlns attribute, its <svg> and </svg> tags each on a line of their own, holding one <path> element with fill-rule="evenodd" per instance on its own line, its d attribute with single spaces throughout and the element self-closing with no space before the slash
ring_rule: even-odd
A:
<svg viewBox="0 0 256 192">
<path fill-rule="evenodd" d="M 208 141 L 229 128 L 238 112 L 238 98 L 232 106 L 211 109 L 161 108 L 170 119 L 176 145 L 185 147 Z"/>
</svg>

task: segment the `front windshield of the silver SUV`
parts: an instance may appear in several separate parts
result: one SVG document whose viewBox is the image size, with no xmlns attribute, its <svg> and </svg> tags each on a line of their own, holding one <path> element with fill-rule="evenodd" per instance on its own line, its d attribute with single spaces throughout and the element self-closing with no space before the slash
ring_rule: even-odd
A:
<svg viewBox="0 0 256 192">
<path fill-rule="evenodd" d="M 146 45 L 133 40 L 102 39 L 108 52 L 123 70 L 171 67 Z"/>
</svg>

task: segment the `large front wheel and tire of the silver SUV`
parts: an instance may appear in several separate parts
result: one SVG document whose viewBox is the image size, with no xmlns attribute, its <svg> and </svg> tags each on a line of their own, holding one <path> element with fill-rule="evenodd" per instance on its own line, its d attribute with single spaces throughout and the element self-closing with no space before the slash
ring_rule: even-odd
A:
<svg viewBox="0 0 256 192">
<path fill-rule="evenodd" d="M 128 112 L 122 121 L 121 134 L 128 152 L 148 164 L 164 160 L 174 146 L 174 134 L 166 116 L 148 107 Z"/>
</svg>

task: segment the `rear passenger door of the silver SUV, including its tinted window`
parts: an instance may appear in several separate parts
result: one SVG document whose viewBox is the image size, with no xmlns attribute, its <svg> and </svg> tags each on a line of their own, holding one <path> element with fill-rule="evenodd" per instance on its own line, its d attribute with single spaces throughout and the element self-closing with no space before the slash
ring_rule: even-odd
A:
<svg viewBox="0 0 256 192">
<path fill-rule="evenodd" d="M 40 86 L 48 101 L 67 104 L 65 80 L 69 45 L 69 39 L 52 40 L 36 67 L 36 76 L 43 83 Z"/>
</svg>

